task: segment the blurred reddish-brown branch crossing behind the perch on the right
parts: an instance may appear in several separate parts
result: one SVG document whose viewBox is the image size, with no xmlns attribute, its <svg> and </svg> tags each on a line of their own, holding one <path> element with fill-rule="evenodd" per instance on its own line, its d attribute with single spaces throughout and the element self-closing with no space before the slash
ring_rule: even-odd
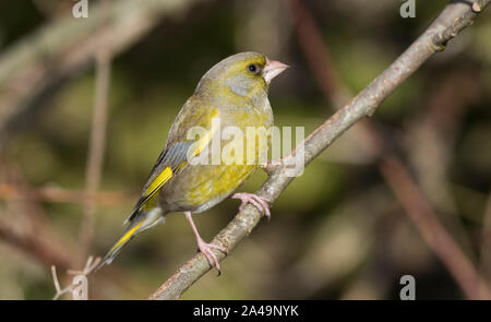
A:
<svg viewBox="0 0 491 322">
<path fill-rule="evenodd" d="M 292 13 L 297 17 L 296 29 L 300 45 L 308 57 L 319 86 L 335 107 L 340 107 L 339 99 L 349 91 L 339 81 L 334 64 L 328 59 L 328 50 L 322 40 L 322 35 L 303 2 L 292 0 L 291 4 Z M 326 82 L 326 80 L 333 81 Z M 384 136 L 381 131 L 378 131 L 378 128 L 371 122 L 360 122 L 359 129 L 363 131 L 362 136 L 367 141 L 363 142 L 363 146 L 368 146 L 373 150 L 372 153 L 379 154 L 378 167 L 387 186 L 424 241 L 442 261 L 465 295 L 474 299 L 491 298 L 491 291 L 486 281 L 444 228 L 420 193 L 403 160 L 395 151 L 391 151 L 392 144 L 386 135 Z"/>
</svg>

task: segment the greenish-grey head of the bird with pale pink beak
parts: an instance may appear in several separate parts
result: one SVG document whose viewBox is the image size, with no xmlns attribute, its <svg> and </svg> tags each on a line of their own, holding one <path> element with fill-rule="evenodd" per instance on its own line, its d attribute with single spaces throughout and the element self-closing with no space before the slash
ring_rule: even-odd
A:
<svg viewBox="0 0 491 322">
<path fill-rule="evenodd" d="M 258 52 L 240 52 L 221 60 L 202 77 L 197 88 L 219 88 L 252 98 L 267 94 L 271 81 L 288 65 Z M 203 88 L 206 87 L 206 88 Z"/>
</svg>

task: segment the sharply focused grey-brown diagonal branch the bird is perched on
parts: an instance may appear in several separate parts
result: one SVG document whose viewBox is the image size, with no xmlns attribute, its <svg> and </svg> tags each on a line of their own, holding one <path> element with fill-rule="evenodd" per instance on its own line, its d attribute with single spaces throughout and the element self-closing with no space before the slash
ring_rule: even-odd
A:
<svg viewBox="0 0 491 322">
<path fill-rule="evenodd" d="M 297 146 L 292 154 L 284 159 L 295 157 L 296 153 L 304 153 L 306 165 L 312 162 L 334 140 L 342 135 L 360 119 L 373 115 L 376 107 L 391 95 L 407 77 L 409 77 L 433 53 L 442 51 L 447 41 L 462 29 L 471 24 L 490 0 L 452 1 L 427 28 L 427 31 L 409 48 L 400 55 L 385 71 L 372 81 L 343 109 L 338 110 L 306 141 Z M 285 166 L 272 167 L 270 178 L 258 194 L 275 201 L 291 182 L 292 177 L 285 175 Z M 262 215 L 253 206 L 247 206 L 214 239 L 214 243 L 223 245 L 230 252 L 239 241 L 249 235 L 258 225 Z M 216 252 L 219 260 L 224 254 Z M 149 299 L 179 298 L 194 282 L 211 270 L 203 254 L 194 255 L 165 282 Z"/>
</svg>

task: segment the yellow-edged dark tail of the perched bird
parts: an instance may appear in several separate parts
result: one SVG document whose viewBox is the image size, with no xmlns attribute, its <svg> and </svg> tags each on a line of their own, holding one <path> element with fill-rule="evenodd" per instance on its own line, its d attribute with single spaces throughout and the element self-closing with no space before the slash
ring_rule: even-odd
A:
<svg viewBox="0 0 491 322">
<path fill-rule="evenodd" d="M 139 215 L 134 217 L 131 224 L 128 226 L 124 235 L 111 247 L 111 249 L 107 252 L 100 263 L 97 265 L 96 270 L 99 270 L 104 265 L 109 265 L 116 255 L 121 251 L 124 245 L 127 245 L 133 237 L 146 230 L 161 220 L 165 217 L 163 216 L 161 210 L 159 207 L 154 207 L 148 212 L 142 211 Z"/>
</svg>

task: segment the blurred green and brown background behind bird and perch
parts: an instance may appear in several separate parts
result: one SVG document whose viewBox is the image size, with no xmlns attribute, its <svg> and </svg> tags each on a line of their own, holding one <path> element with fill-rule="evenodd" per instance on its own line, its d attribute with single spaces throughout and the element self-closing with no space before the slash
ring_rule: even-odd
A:
<svg viewBox="0 0 491 322">
<path fill-rule="evenodd" d="M 50 299 L 51 265 L 67 286 L 67 270 L 105 254 L 213 64 L 247 50 L 290 64 L 270 91 L 275 123 L 308 134 L 447 1 L 417 0 L 412 19 L 396 0 L 91 0 L 75 19 L 76 3 L 0 2 L 1 299 Z M 182 298 L 398 299 L 406 274 L 417 299 L 467 298 L 456 278 L 465 270 L 450 273 L 448 262 L 465 266 L 455 247 L 447 261 L 445 245 L 429 247 L 442 231 L 490 282 L 490 62 L 484 12 L 292 181 L 221 276 L 206 274 Z M 240 190 L 265 179 L 258 171 Z M 197 215 L 203 238 L 238 205 Z M 429 217 L 436 228 L 424 228 Z M 89 298 L 146 298 L 195 251 L 189 224 L 171 214 L 88 276 Z"/>
</svg>

